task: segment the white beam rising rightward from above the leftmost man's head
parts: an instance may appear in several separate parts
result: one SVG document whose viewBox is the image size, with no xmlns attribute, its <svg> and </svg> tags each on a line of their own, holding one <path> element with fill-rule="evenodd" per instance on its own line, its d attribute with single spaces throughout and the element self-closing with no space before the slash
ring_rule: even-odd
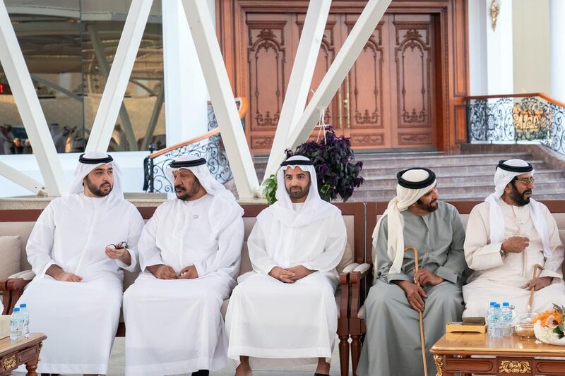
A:
<svg viewBox="0 0 565 376">
<path fill-rule="evenodd" d="M 87 152 L 92 150 L 105 152 L 108 149 L 114 124 L 123 104 L 133 63 L 136 61 L 151 4 L 153 4 L 153 0 L 131 1 L 124 31 L 121 33 L 112 68 L 109 71 L 104 93 L 100 100 L 100 106 L 96 112 L 93 129 L 86 145 Z M 128 142 L 133 150 L 137 149 L 136 141 L 128 139 Z"/>
</svg>

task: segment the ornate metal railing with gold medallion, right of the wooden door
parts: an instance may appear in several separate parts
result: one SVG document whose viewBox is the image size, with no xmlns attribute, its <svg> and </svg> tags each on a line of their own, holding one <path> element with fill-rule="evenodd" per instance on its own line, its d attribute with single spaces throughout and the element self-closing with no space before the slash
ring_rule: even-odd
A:
<svg viewBox="0 0 565 376">
<path fill-rule="evenodd" d="M 565 154 L 565 104 L 542 93 L 468 97 L 468 142 L 540 143 Z"/>
</svg>

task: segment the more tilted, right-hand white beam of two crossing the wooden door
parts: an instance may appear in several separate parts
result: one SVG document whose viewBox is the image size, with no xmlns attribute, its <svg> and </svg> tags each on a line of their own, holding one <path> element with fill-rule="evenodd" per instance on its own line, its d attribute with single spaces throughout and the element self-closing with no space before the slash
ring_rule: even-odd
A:
<svg viewBox="0 0 565 376">
<path fill-rule="evenodd" d="M 374 32 L 376 25 L 383 17 L 386 8 L 392 0 L 369 0 L 363 9 L 357 23 L 353 26 L 350 34 L 343 43 L 338 56 L 331 64 L 328 72 L 323 77 L 318 89 L 299 121 L 290 130 L 287 145 L 294 148 L 308 139 L 314 129 L 316 122 L 320 119 L 320 113 L 330 104 L 333 95 L 338 91 L 340 84 L 349 73 L 355 63 L 357 56 L 369 40 L 371 33 Z M 278 162 L 283 160 L 281 155 Z"/>
</svg>

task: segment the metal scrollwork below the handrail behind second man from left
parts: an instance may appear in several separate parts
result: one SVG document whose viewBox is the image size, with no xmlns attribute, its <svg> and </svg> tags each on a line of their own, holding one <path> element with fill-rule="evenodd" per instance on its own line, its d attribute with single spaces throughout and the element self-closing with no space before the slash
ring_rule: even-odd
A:
<svg viewBox="0 0 565 376">
<path fill-rule="evenodd" d="M 214 114 L 212 106 L 208 106 L 208 131 L 218 128 L 218 121 Z M 210 174 L 217 181 L 224 184 L 232 179 L 232 170 L 230 163 L 227 161 L 222 138 L 220 135 L 213 135 L 206 140 L 195 142 L 194 144 L 185 145 L 175 150 L 171 150 L 165 154 L 153 159 L 153 163 L 147 164 L 146 168 L 148 176 L 153 177 L 152 192 L 173 193 L 174 187 L 165 175 L 167 166 L 181 155 L 192 154 L 195 157 L 202 157 L 208 161 L 208 169 Z M 152 174 L 153 173 L 153 174 Z"/>
</svg>

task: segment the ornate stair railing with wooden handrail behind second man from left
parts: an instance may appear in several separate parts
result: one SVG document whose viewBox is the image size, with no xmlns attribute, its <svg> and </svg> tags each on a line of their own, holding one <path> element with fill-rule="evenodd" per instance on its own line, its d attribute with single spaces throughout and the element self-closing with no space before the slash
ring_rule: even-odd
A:
<svg viewBox="0 0 565 376">
<path fill-rule="evenodd" d="M 247 110 L 247 101 L 245 98 L 236 98 L 236 102 L 239 107 L 239 117 L 242 119 L 242 126 L 245 129 L 243 118 Z M 220 183 L 224 184 L 232 179 L 230 162 L 227 160 L 218 121 L 210 103 L 208 103 L 207 133 L 157 152 L 155 152 L 153 145 L 150 145 L 149 150 L 151 154 L 143 161 L 143 171 L 145 171 L 143 190 L 145 192 L 174 192 L 172 181 L 169 181 L 165 171 L 174 159 L 185 154 L 206 158 L 210 174 Z"/>
</svg>

